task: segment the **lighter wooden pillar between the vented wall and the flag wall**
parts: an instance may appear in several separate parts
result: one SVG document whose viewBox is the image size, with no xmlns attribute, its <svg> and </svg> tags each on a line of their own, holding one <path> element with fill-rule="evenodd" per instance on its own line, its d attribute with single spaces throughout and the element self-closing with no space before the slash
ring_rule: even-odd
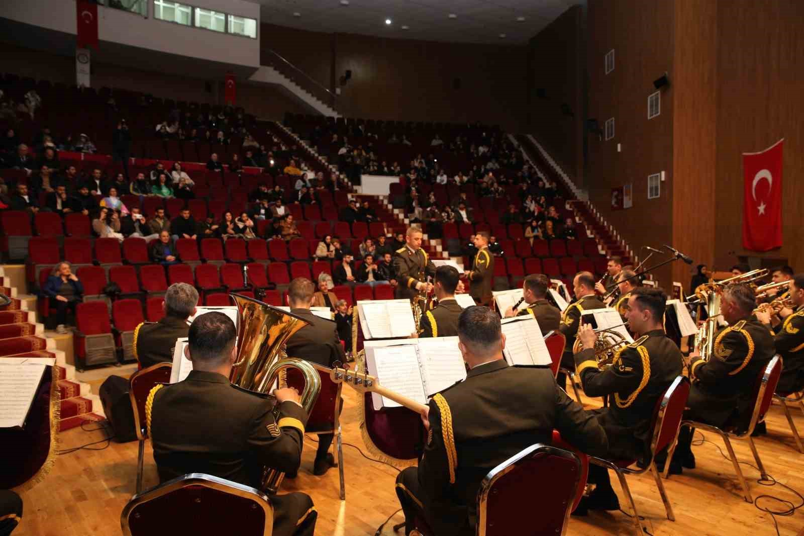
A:
<svg viewBox="0 0 804 536">
<path fill-rule="evenodd" d="M 721 2 L 723 3 L 723 2 Z M 673 264 L 689 291 L 695 265 L 712 266 L 715 248 L 717 0 L 676 0 L 673 106 L 673 245 L 695 262 Z M 663 103 L 662 103 L 663 104 Z M 723 266 L 720 266 L 723 268 Z"/>
</svg>

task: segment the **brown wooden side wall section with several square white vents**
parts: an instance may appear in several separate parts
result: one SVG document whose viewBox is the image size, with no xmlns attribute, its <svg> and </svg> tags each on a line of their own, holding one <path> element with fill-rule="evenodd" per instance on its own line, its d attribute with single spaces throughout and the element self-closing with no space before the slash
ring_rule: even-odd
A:
<svg viewBox="0 0 804 536">
<path fill-rule="evenodd" d="M 672 242 L 676 90 L 662 90 L 662 113 L 650 120 L 647 97 L 655 91 L 653 80 L 665 71 L 673 76 L 673 10 L 673 0 L 589 2 L 588 117 L 597 118 L 601 128 L 607 118 L 615 118 L 616 130 L 609 141 L 589 135 L 586 183 L 590 200 L 637 254 L 644 245 Z M 612 48 L 615 68 L 606 75 L 604 57 Z M 667 177 L 661 196 L 648 200 L 647 176 L 661 171 Z M 634 208 L 612 211 L 611 188 L 625 183 L 633 184 Z M 654 277 L 669 286 L 671 268 Z"/>
</svg>

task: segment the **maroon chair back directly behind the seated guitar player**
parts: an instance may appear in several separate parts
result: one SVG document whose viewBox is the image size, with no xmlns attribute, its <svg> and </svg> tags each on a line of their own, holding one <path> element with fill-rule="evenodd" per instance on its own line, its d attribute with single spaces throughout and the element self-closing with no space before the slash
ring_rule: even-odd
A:
<svg viewBox="0 0 804 536">
<path fill-rule="evenodd" d="M 580 472 L 578 456 L 542 443 L 511 456 L 481 483 L 476 534 L 563 534 Z"/>
</svg>

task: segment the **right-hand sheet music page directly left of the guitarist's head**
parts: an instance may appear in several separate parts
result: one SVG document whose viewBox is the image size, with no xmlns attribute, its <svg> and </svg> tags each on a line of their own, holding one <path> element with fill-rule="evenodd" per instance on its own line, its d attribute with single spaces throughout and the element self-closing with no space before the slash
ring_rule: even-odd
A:
<svg viewBox="0 0 804 536">
<path fill-rule="evenodd" d="M 428 397 L 466 380 L 466 365 L 457 348 L 457 337 L 419 339 L 419 365 Z"/>
</svg>

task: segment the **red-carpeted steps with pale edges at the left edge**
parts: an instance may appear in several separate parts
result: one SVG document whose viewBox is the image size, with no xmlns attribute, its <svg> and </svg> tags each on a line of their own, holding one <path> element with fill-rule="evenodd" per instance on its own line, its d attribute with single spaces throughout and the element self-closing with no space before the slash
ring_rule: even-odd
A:
<svg viewBox="0 0 804 536">
<path fill-rule="evenodd" d="M 0 287 L 12 299 L 0 307 L 0 359 L 55 357 L 61 399 L 59 431 L 80 427 L 84 421 L 104 419 L 100 398 L 92 394 L 87 382 L 76 378 L 76 367 L 68 362 L 72 361 L 72 335 L 46 332 L 44 325 L 36 321 L 36 298 L 26 294 L 25 266 L 0 266 Z"/>
</svg>

